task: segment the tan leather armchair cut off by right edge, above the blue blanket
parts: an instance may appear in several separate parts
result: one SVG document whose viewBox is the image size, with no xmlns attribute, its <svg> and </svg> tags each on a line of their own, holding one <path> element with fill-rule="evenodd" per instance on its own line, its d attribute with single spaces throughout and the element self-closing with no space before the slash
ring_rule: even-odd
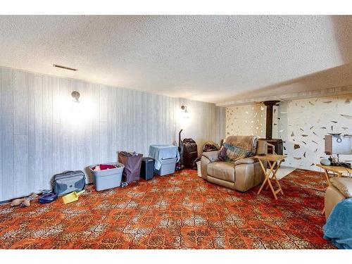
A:
<svg viewBox="0 0 352 264">
<path fill-rule="evenodd" d="M 325 191 L 325 218 L 329 218 L 332 209 L 339 201 L 352 197 L 352 178 L 334 177 L 330 179 Z"/>
</svg>

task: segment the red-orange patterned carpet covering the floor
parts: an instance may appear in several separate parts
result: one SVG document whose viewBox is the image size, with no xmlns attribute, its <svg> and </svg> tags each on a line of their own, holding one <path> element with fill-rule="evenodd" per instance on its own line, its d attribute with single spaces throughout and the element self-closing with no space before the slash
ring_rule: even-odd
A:
<svg viewBox="0 0 352 264">
<path fill-rule="evenodd" d="M 296 170 L 275 201 L 241 194 L 194 170 L 121 189 L 89 189 L 64 205 L 0 206 L 4 249 L 334 249 L 322 238 L 322 175 Z"/>
</svg>

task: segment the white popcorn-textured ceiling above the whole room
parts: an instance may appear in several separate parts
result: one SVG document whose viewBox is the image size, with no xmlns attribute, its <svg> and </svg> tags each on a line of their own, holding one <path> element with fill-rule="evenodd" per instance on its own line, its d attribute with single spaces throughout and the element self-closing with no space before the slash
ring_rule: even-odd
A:
<svg viewBox="0 0 352 264">
<path fill-rule="evenodd" d="M 352 61 L 347 16 L 0 16 L 0 25 L 1 66 L 200 101 L 277 94 L 281 82 Z"/>
</svg>

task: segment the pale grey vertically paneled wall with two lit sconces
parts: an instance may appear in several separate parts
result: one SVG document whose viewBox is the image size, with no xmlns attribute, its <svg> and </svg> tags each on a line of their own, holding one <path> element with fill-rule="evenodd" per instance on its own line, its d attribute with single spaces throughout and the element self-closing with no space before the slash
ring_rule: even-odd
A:
<svg viewBox="0 0 352 264">
<path fill-rule="evenodd" d="M 116 161 L 118 150 L 147 155 L 150 144 L 177 144 L 181 127 L 199 151 L 206 140 L 225 137 L 225 108 L 213 103 L 0 70 L 0 201 L 48 189 L 58 172 Z"/>
</svg>

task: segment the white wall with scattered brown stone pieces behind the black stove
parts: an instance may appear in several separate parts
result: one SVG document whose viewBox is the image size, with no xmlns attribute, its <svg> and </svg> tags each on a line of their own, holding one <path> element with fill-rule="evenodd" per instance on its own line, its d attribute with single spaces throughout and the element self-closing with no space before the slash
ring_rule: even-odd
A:
<svg viewBox="0 0 352 264">
<path fill-rule="evenodd" d="M 273 138 L 284 141 L 283 165 L 306 170 L 326 157 L 327 133 L 352 134 L 352 94 L 315 99 L 282 101 L 274 108 Z M 233 106 L 226 111 L 226 134 L 256 134 L 265 137 L 265 106 Z M 340 157 L 351 161 L 351 155 Z"/>
</svg>

